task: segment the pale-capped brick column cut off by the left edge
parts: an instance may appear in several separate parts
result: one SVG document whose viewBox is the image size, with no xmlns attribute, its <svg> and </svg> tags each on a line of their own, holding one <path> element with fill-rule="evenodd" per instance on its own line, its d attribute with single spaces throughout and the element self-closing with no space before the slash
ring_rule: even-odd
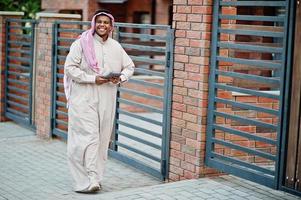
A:
<svg viewBox="0 0 301 200">
<path fill-rule="evenodd" d="M 0 11 L 0 122 L 6 121 L 4 117 L 4 95 L 5 95 L 5 42 L 6 27 L 5 23 L 8 18 L 21 18 L 23 12 Z"/>
</svg>

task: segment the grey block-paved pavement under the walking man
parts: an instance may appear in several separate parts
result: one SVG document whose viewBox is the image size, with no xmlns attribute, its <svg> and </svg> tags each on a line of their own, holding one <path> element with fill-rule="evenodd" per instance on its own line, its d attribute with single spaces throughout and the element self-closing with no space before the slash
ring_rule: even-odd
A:
<svg viewBox="0 0 301 200">
<path fill-rule="evenodd" d="M 66 160 L 64 141 L 41 140 L 13 122 L 0 123 L 0 200 L 301 199 L 229 175 L 163 183 L 112 158 L 103 190 L 79 194 L 72 191 Z"/>
</svg>

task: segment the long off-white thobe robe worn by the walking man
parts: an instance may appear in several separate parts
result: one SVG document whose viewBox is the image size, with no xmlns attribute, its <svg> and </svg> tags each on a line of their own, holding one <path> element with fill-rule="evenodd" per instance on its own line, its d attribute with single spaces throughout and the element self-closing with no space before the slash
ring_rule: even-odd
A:
<svg viewBox="0 0 301 200">
<path fill-rule="evenodd" d="M 133 75 L 134 64 L 121 45 L 94 35 L 96 59 L 104 71 L 121 72 L 121 80 Z M 67 157 L 75 191 L 84 191 L 91 179 L 102 181 L 113 128 L 117 85 L 95 84 L 96 73 L 84 58 L 80 41 L 70 47 L 64 66 L 72 79 L 68 101 Z"/>
</svg>

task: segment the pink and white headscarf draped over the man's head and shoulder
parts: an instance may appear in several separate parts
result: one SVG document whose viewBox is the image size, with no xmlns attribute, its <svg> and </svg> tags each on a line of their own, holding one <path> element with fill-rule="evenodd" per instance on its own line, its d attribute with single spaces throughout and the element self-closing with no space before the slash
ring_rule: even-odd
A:
<svg viewBox="0 0 301 200">
<path fill-rule="evenodd" d="M 109 13 L 99 12 L 93 16 L 91 21 L 91 28 L 86 30 L 79 36 L 80 44 L 83 49 L 84 57 L 88 62 L 88 66 L 97 74 L 100 74 L 101 69 L 98 66 L 98 62 L 96 60 L 93 36 L 95 34 L 95 19 L 99 15 L 105 15 L 109 17 L 111 19 L 111 25 L 112 27 L 114 27 L 114 22 L 115 22 L 114 17 Z M 65 89 L 65 95 L 67 99 L 67 106 L 68 106 L 68 100 L 71 92 L 71 81 L 72 80 L 69 77 L 67 77 L 66 74 L 64 74 L 64 89 Z"/>
</svg>

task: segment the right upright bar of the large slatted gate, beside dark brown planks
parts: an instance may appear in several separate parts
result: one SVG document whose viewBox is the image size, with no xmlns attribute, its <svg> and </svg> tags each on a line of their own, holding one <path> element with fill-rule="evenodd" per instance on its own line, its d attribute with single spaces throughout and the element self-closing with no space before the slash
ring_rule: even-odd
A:
<svg viewBox="0 0 301 200">
<path fill-rule="evenodd" d="M 285 6 L 285 10 L 286 10 L 286 13 L 285 13 L 285 21 L 284 21 L 284 37 L 283 37 L 283 52 L 282 52 L 282 61 L 281 61 L 281 64 L 282 64 L 282 68 L 281 68 L 281 76 L 280 76 L 280 100 L 279 100 L 279 122 L 278 123 L 278 127 L 277 127 L 277 149 L 276 149 L 276 155 L 277 155 L 277 159 L 276 159 L 276 162 L 275 162 L 275 179 L 274 179 L 274 188 L 275 189 L 278 189 L 278 183 L 279 183 L 279 168 L 280 168 L 280 156 L 281 156 L 281 151 L 280 151 L 280 148 L 281 148 L 281 140 L 282 138 L 284 138 L 282 136 L 282 134 L 285 135 L 285 132 L 282 132 L 282 123 L 283 123 L 283 110 L 284 110 L 284 101 L 285 101 L 285 92 L 284 89 L 285 89 L 285 85 L 284 83 L 286 82 L 285 78 L 286 78 L 286 56 L 287 56 L 287 40 L 288 40 L 288 23 L 289 23 L 289 15 L 288 15 L 288 11 L 289 11 L 289 1 L 287 0 L 286 1 L 286 6 Z"/>
</svg>

